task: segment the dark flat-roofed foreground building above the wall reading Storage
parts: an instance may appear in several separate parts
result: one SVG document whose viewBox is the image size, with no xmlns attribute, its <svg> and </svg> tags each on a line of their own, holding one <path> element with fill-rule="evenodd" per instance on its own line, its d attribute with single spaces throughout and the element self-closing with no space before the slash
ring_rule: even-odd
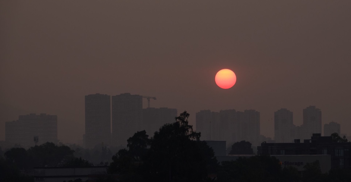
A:
<svg viewBox="0 0 351 182">
<path fill-rule="evenodd" d="M 331 136 L 313 134 L 303 143 L 261 143 L 258 155 L 330 155 L 331 168 L 351 168 L 351 142 L 333 142 Z"/>
</svg>

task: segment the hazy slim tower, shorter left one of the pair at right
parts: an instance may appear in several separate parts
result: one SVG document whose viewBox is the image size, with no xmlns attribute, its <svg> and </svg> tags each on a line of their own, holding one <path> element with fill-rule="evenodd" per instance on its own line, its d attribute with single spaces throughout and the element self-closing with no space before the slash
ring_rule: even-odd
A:
<svg viewBox="0 0 351 182">
<path fill-rule="evenodd" d="M 296 130 L 290 110 L 282 108 L 274 112 L 274 139 L 277 143 L 294 142 Z"/>
</svg>

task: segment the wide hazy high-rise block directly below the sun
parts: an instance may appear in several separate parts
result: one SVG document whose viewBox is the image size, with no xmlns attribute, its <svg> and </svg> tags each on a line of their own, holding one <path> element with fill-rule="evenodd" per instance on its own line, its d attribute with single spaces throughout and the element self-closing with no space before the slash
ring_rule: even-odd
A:
<svg viewBox="0 0 351 182">
<path fill-rule="evenodd" d="M 201 140 L 227 141 L 227 147 L 241 140 L 253 146 L 263 142 L 260 141 L 260 113 L 256 110 L 200 110 L 196 113 L 196 131 L 201 132 Z"/>
</svg>

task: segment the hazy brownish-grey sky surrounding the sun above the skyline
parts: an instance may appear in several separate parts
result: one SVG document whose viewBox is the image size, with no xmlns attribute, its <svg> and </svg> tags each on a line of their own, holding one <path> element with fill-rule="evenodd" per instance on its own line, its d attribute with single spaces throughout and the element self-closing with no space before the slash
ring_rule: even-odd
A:
<svg viewBox="0 0 351 182">
<path fill-rule="evenodd" d="M 322 109 L 351 134 L 351 1 L 0 1 L 0 140 L 19 114 L 58 115 L 82 139 L 84 95 L 155 96 L 152 107 Z M 222 68 L 237 75 L 220 89 Z M 144 100 L 144 107 L 147 103 Z M 323 128 L 323 127 L 322 127 Z"/>
</svg>

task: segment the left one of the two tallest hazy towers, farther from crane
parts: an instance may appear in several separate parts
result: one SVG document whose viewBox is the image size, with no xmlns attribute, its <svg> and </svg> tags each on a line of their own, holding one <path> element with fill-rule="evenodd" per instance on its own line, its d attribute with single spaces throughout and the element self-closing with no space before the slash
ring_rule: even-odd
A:
<svg viewBox="0 0 351 182">
<path fill-rule="evenodd" d="M 85 96 L 85 147 L 111 143 L 111 96 Z"/>
</svg>

